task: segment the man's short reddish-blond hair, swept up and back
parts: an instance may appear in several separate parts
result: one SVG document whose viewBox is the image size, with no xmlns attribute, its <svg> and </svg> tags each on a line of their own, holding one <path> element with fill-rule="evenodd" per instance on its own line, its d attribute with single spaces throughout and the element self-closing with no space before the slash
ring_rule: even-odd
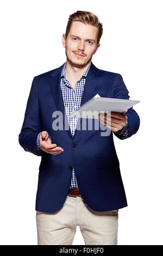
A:
<svg viewBox="0 0 163 256">
<path fill-rule="evenodd" d="M 98 35 L 97 35 L 97 45 L 98 45 L 99 40 L 101 39 L 101 36 L 103 34 L 103 23 L 99 22 L 98 17 L 95 14 L 90 13 L 90 11 L 76 11 L 76 13 L 71 14 L 67 22 L 66 33 L 65 33 L 66 38 L 68 33 L 70 32 L 73 21 L 80 21 L 85 25 L 88 24 L 98 28 Z"/>
</svg>

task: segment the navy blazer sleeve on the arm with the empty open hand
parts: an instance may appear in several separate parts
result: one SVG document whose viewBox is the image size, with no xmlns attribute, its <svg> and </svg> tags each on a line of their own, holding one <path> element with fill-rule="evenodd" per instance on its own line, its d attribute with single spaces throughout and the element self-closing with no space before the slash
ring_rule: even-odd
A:
<svg viewBox="0 0 163 256">
<path fill-rule="evenodd" d="M 30 89 L 26 112 L 24 114 L 24 121 L 20 134 L 18 135 L 18 142 L 21 147 L 34 155 L 46 156 L 47 153 L 40 151 L 37 148 L 37 136 L 42 131 L 40 112 L 39 112 L 39 98 L 36 84 L 36 77 L 33 78 L 32 87 Z"/>
</svg>

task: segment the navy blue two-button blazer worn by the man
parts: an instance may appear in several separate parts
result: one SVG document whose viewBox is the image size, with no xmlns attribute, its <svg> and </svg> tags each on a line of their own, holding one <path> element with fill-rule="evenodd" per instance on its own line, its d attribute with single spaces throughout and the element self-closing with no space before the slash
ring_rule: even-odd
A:
<svg viewBox="0 0 163 256">
<path fill-rule="evenodd" d="M 91 209 L 109 211 L 123 208 L 127 206 L 127 199 L 112 132 L 110 136 L 101 136 L 103 130 L 95 130 L 95 122 L 99 120 L 94 119 L 92 130 L 76 129 L 72 137 L 60 88 L 62 66 L 34 77 L 18 136 L 25 151 L 41 156 L 35 209 L 55 212 L 62 207 L 71 186 L 73 166 L 80 193 Z M 129 99 L 128 93 L 120 74 L 100 70 L 91 62 L 81 106 L 96 94 L 101 97 Z M 63 127 L 69 129 L 53 130 L 54 111 L 62 112 L 62 115 L 59 113 L 55 118 L 61 118 Z M 129 138 L 139 129 L 140 118 L 133 107 L 128 109 L 126 115 Z M 77 127 L 83 120 L 78 119 Z M 64 151 L 59 155 L 40 151 L 36 138 L 41 131 L 47 131 L 52 143 L 56 143 Z"/>
</svg>

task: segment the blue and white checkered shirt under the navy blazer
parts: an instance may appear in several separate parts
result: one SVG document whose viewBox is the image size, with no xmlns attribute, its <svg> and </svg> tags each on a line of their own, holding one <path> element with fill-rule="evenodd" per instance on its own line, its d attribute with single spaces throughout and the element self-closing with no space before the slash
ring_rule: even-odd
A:
<svg viewBox="0 0 163 256">
<path fill-rule="evenodd" d="M 71 134 L 73 137 L 74 132 L 76 130 L 78 118 L 71 118 L 71 117 L 69 117 L 69 115 L 73 111 L 75 111 L 76 109 L 78 109 L 80 107 L 80 103 L 82 101 L 82 96 L 83 96 L 86 75 L 90 69 L 91 64 L 87 67 L 84 74 L 80 77 L 80 80 L 76 82 L 75 90 L 72 88 L 70 82 L 66 79 L 65 66 L 66 66 L 66 62 L 64 63 L 64 66 L 61 71 L 60 86 L 61 86 L 62 98 L 64 100 L 65 110 L 66 110 L 66 114 L 67 114 L 67 118 L 68 118 L 68 123 L 69 123 Z M 127 137 L 127 132 L 128 132 L 128 124 L 126 123 L 126 126 L 124 126 L 122 130 L 116 132 L 116 134 L 120 135 L 121 139 L 124 139 Z M 42 150 L 40 147 L 40 141 L 39 141 L 40 133 L 37 136 L 37 147 L 38 147 L 38 149 Z M 49 136 L 49 138 L 51 139 L 50 136 Z M 52 141 L 52 139 L 51 139 L 51 141 Z M 76 178 L 76 174 L 74 171 L 74 167 L 72 170 L 72 179 L 71 179 L 70 188 L 78 188 L 78 183 L 77 183 L 77 178 Z"/>
</svg>

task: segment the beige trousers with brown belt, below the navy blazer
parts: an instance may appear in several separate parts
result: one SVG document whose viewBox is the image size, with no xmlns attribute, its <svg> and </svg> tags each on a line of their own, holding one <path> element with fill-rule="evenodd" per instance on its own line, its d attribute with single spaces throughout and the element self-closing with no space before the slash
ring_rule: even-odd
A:
<svg viewBox="0 0 163 256">
<path fill-rule="evenodd" d="M 82 197 L 67 196 L 54 213 L 36 211 L 38 245 L 72 245 L 77 226 L 85 245 L 117 245 L 118 210 L 94 211 Z"/>
</svg>

